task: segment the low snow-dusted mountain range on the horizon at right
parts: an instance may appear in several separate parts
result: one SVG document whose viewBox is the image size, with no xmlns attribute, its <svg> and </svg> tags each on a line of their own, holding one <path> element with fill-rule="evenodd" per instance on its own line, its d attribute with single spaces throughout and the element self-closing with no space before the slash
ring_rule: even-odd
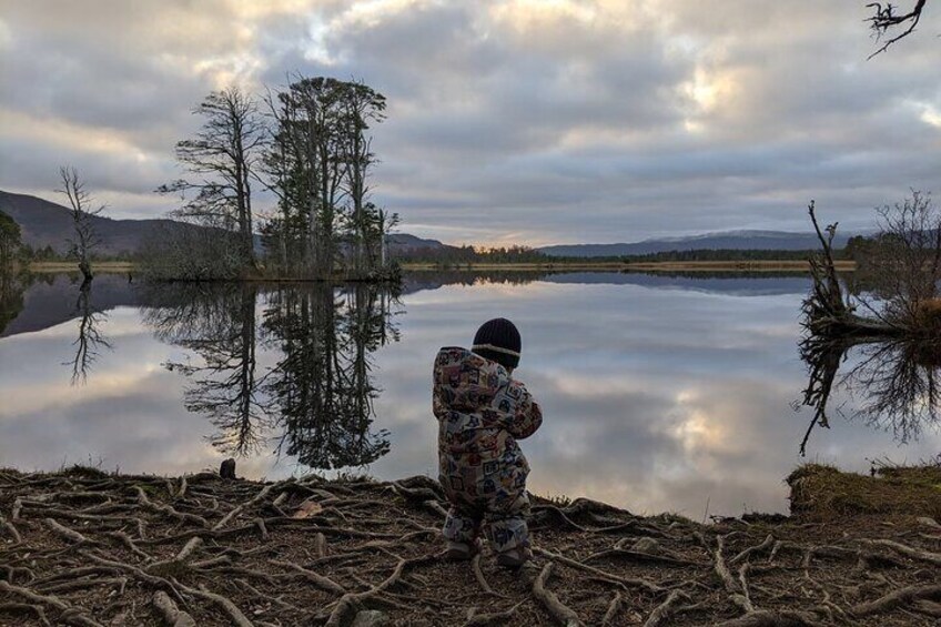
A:
<svg viewBox="0 0 941 627">
<path fill-rule="evenodd" d="M 851 234 L 837 234 L 833 239 L 836 247 L 847 245 Z M 661 237 L 644 240 L 630 244 L 559 244 L 537 249 L 550 256 L 621 256 L 646 255 L 674 251 L 699 250 L 771 250 L 771 251 L 806 251 L 817 249 L 820 243 L 813 233 L 791 233 L 787 231 L 726 231 L 706 233 L 688 237 Z"/>
</svg>

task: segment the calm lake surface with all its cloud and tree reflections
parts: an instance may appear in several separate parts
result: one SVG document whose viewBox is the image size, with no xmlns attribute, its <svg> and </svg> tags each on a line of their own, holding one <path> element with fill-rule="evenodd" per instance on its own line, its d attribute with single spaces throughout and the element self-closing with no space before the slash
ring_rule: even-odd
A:
<svg viewBox="0 0 941 627">
<path fill-rule="evenodd" d="M 516 376 L 543 404 L 529 487 L 639 513 L 787 510 L 809 411 L 801 276 L 409 275 L 401 294 L 325 285 L 144 287 L 67 276 L 0 307 L 0 466 L 178 474 L 239 457 L 277 478 L 364 467 L 436 473 L 431 363 L 494 316 L 523 342 Z M 852 398 L 834 398 L 844 407 Z M 937 455 L 834 413 L 808 458 Z"/>
</svg>

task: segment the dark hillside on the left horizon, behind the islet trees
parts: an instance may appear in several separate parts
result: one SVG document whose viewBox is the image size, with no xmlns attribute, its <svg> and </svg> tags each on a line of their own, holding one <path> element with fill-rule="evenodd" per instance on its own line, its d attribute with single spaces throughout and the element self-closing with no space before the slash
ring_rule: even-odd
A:
<svg viewBox="0 0 941 627">
<path fill-rule="evenodd" d="M 36 196 L 0 191 L 0 211 L 7 213 L 20 225 L 24 244 L 37 250 L 52 246 L 58 253 L 68 251 L 69 240 L 73 236 L 69 209 Z M 200 229 L 200 226 L 165 219 L 112 220 L 95 216 L 92 218 L 92 222 L 102 240 L 98 252 L 104 255 L 134 253 L 154 233 L 164 229 Z M 261 239 L 256 235 L 255 246 L 260 245 Z M 389 236 L 389 250 L 393 253 L 443 247 L 445 245 L 437 240 L 423 240 L 407 233 L 395 233 Z"/>
</svg>

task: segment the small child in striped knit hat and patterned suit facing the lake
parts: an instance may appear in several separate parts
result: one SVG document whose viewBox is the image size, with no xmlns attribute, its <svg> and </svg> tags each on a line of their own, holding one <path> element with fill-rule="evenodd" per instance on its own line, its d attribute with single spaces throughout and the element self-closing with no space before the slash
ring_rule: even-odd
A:
<svg viewBox="0 0 941 627">
<path fill-rule="evenodd" d="M 518 568 L 532 553 L 525 518 L 529 464 L 516 441 L 533 435 L 543 414 L 526 387 L 510 378 L 520 350 L 512 322 L 486 322 L 472 350 L 445 347 L 435 360 L 438 481 L 451 502 L 447 558 L 473 557 L 483 526 L 497 564 Z"/>
</svg>

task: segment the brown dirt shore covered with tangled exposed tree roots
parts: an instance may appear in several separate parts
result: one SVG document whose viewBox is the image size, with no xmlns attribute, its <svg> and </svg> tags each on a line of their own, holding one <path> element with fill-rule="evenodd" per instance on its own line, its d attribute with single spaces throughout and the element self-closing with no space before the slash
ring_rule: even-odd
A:
<svg viewBox="0 0 941 627">
<path fill-rule="evenodd" d="M 701 525 L 534 503 L 535 559 L 442 560 L 427 477 L 0 471 L 0 625 L 938 625 L 918 515 Z"/>
</svg>

